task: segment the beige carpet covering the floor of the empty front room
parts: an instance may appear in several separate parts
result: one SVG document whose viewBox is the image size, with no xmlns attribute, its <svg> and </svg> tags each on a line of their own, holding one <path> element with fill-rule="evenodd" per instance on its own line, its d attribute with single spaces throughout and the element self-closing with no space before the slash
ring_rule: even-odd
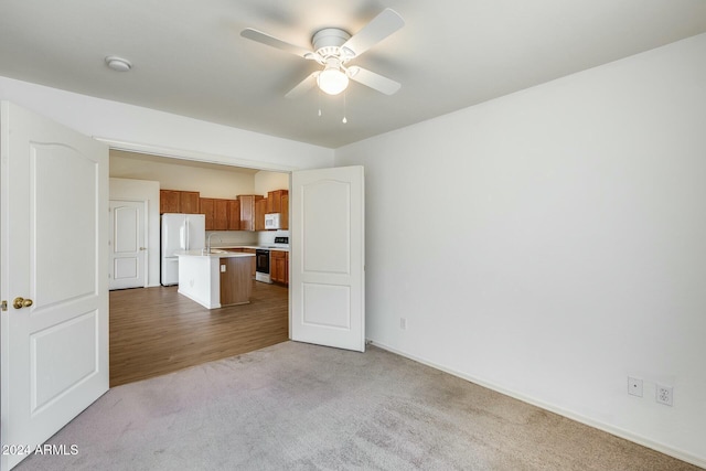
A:
<svg viewBox="0 0 706 471">
<path fill-rule="evenodd" d="M 696 470 L 376 347 L 286 342 L 110 389 L 18 470 Z"/>
</svg>

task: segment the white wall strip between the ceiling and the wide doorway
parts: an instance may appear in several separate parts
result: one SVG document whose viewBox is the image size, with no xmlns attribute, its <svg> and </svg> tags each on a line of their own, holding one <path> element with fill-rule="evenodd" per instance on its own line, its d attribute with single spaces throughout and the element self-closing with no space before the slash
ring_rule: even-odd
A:
<svg viewBox="0 0 706 471">
<path fill-rule="evenodd" d="M 133 105 L 0 77 L 0 99 L 14 101 L 115 149 L 261 170 L 331 167 L 333 150 Z"/>
</svg>

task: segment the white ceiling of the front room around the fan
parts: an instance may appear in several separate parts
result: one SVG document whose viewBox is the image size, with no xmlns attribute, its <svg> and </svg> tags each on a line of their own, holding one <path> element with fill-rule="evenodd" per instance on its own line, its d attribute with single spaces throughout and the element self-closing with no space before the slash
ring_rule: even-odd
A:
<svg viewBox="0 0 706 471">
<path fill-rule="evenodd" d="M 343 96 L 285 98 L 313 61 L 239 35 L 310 47 L 387 7 L 406 25 L 351 64 L 402 89 L 352 83 L 347 124 Z M 336 148 L 704 32 L 705 0 L 2 0 L 0 75 Z"/>
</svg>

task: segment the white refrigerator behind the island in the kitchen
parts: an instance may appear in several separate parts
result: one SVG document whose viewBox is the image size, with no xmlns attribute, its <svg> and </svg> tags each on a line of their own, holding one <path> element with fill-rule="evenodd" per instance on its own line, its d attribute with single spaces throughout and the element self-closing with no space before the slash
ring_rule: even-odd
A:
<svg viewBox="0 0 706 471">
<path fill-rule="evenodd" d="M 179 257 L 174 251 L 202 249 L 205 245 L 206 216 L 162 214 L 162 285 L 179 285 Z"/>
</svg>

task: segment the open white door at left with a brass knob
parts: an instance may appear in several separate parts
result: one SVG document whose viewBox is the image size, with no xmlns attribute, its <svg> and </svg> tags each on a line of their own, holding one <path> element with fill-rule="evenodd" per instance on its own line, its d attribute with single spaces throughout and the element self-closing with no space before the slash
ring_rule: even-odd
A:
<svg viewBox="0 0 706 471">
<path fill-rule="evenodd" d="M 6 471 L 108 390 L 108 148 L 7 101 L 0 141 Z"/>
</svg>

